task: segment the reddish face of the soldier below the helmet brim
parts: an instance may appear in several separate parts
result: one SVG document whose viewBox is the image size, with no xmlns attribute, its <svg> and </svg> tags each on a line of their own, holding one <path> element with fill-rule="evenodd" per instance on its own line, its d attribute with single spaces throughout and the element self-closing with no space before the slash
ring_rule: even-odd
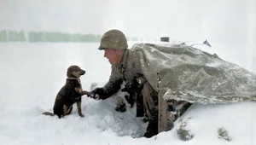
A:
<svg viewBox="0 0 256 145">
<path fill-rule="evenodd" d="M 110 64 L 118 64 L 120 62 L 120 56 L 116 49 L 104 49 L 104 57 L 108 58 Z"/>
</svg>

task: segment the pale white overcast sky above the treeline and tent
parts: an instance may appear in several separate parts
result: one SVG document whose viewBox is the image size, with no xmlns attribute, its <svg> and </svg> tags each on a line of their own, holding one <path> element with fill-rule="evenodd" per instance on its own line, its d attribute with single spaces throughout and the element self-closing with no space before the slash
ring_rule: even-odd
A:
<svg viewBox="0 0 256 145">
<path fill-rule="evenodd" d="M 237 42 L 255 39 L 253 0 L 0 0 L 0 29 Z M 193 40 L 191 40 L 193 38 Z"/>
</svg>

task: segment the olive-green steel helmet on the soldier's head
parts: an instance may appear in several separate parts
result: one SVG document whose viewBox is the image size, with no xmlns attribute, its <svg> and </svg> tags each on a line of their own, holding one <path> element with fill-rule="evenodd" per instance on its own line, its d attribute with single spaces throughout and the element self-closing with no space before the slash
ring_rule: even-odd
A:
<svg viewBox="0 0 256 145">
<path fill-rule="evenodd" d="M 125 34 L 119 30 L 113 29 L 105 32 L 101 39 L 99 49 L 127 49 L 127 39 Z"/>
</svg>

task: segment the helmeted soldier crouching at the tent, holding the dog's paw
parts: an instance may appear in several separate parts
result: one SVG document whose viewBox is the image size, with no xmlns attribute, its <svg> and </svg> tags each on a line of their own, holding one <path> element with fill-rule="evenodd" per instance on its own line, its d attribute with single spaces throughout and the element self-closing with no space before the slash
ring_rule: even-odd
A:
<svg viewBox="0 0 256 145">
<path fill-rule="evenodd" d="M 171 130 L 174 119 L 168 119 L 170 114 L 167 110 L 168 108 L 172 110 L 172 107 L 168 107 L 168 103 L 159 97 L 158 92 L 148 83 L 137 51 L 127 48 L 128 44 L 123 32 L 110 30 L 103 34 L 98 49 L 105 51 L 104 57 L 112 65 L 112 72 L 104 87 L 91 91 L 94 94 L 93 98 L 107 99 L 119 91 L 123 82 L 129 83 L 134 91 L 143 94 L 142 109 L 144 108 L 148 118 L 148 127 L 144 136 L 151 137 L 160 131 Z"/>
</svg>

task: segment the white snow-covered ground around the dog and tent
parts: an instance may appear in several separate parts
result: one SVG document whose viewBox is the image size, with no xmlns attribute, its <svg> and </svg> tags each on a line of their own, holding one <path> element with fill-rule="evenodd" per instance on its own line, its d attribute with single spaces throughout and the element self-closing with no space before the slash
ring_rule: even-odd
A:
<svg viewBox="0 0 256 145">
<path fill-rule="evenodd" d="M 52 112 L 55 95 L 65 84 L 66 70 L 70 65 L 79 65 L 87 71 L 81 77 L 84 90 L 90 90 L 92 83 L 98 86 L 107 83 L 110 65 L 97 46 L 97 43 L 0 44 L 1 145 L 256 144 L 256 102 L 194 104 L 177 120 L 172 131 L 150 139 L 138 137 L 143 135 L 146 124 L 135 118 L 135 108 L 125 113 L 114 111 L 114 97 L 95 101 L 84 96 L 84 118 L 79 117 L 75 105 L 73 113 L 63 119 L 42 115 L 44 111 Z M 198 45 L 198 48 L 217 53 L 225 61 L 235 62 L 256 73 L 252 63 L 255 56 L 240 57 L 236 55 L 240 50 L 232 55 L 229 48 L 220 44 L 212 46 Z M 184 122 L 184 128 L 194 135 L 187 142 L 177 136 L 177 129 Z M 219 128 L 229 132 L 230 142 L 218 138 Z"/>
</svg>

